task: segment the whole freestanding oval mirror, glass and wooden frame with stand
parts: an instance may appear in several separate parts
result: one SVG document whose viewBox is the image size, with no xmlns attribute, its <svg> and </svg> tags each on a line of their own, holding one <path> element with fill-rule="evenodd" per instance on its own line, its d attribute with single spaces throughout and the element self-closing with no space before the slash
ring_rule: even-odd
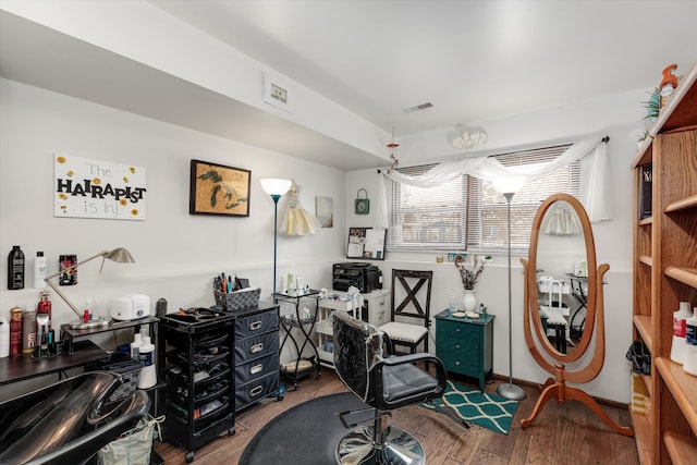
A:
<svg viewBox="0 0 697 465">
<path fill-rule="evenodd" d="M 610 269 L 607 264 L 596 264 L 590 220 L 575 197 L 554 194 L 542 203 L 533 221 L 528 259 L 521 261 L 525 270 L 525 342 L 535 362 L 552 375 L 540 386 L 535 408 L 521 425 L 530 426 L 551 399 L 560 405 L 576 400 L 619 433 L 633 436 L 632 428 L 615 424 L 583 389 L 566 386 L 589 382 L 602 369 L 602 280 Z"/>
</svg>

